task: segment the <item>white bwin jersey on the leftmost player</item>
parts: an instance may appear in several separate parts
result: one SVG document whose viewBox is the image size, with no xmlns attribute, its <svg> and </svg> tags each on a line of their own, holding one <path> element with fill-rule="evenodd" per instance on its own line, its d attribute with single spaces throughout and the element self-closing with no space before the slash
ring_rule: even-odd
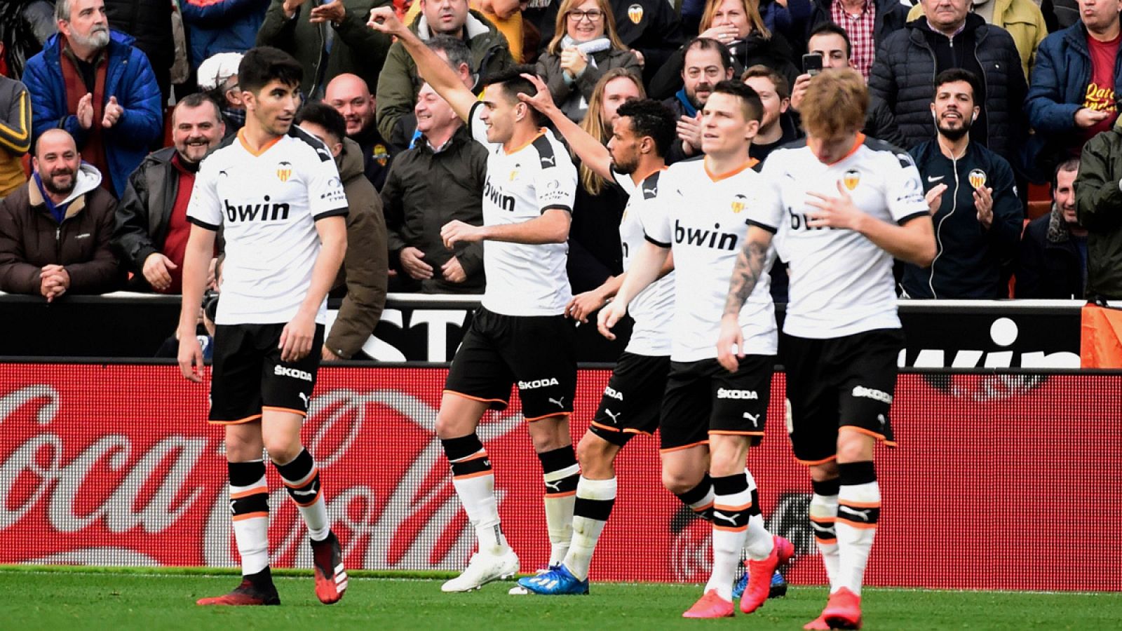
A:
<svg viewBox="0 0 1122 631">
<path fill-rule="evenodd" d="M 312 284 L 320 254 L 315 222 L 347 214 L 328 148 L 295 125 L 254 153 L 241 132 L 203 159 L 187 220 L 226 239 L 218 324 L 288 322 Z M 327 323 L 327 299 L 315 321 Z"/>
</svg>

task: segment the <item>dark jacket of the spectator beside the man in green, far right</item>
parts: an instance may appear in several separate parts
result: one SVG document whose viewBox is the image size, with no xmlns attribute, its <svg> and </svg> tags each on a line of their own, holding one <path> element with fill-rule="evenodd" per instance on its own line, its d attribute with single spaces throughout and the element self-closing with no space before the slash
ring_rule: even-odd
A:
<svg viewBox="0 0 1122 631">
<path fill-rule="evenodd" d="M 1017 298 L 1082 299 L 1085 275 L 1076 238 L 1058 208 L 1029 222 L 1017 264 Z"/>
</svg>

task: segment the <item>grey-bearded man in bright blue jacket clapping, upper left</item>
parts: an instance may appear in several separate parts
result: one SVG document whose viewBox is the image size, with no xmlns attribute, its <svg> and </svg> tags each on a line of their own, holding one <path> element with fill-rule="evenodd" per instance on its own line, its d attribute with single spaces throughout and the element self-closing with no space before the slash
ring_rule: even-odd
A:
<svg viewBox="0 0 1122 631">
<path fill-rule="evenodd" d="M 58 34 L 27 61 L 33 138 L 65 129 L 101 185 L 120 198 L 129 174 L 164 132 L 159 89 L 132 38 L 111 31 L 102 0 L 59 0 Z"/>
</svg>

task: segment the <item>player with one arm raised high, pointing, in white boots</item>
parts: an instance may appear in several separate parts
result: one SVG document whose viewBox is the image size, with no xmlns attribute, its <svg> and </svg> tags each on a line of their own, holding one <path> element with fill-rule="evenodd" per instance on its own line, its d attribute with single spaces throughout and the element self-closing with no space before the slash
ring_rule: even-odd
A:
<svg viewBox="0 0 1122 631">
<path fill-rule="evenodd" d="M 460 349 L 452 359 L 436 414 L 436 436 L 452 465 L 452 484 L 475 527 L 479 551 L 444 592 L 466 592 L 508 578 L 518 557 L 507 545 L 495 500 L 495 476 L 476 435 L 488 408 L 505 409 L 517 384 L 530 438 L 542 464 L 550 566 L 560 564 L 572 538 L 580 467 L 569 435 L 577 390 L 573 328 L 564 318 L 572 298 L 565 276 L 565 240 L 577 189 L 577 170 L 564 146 L 540 128 L 537 113 L 518 100 L 534 94 L 515 66 L 484 79 L 481 100 L 390 7 L 370 12 L 370 28 L 397 37 L 417 71 L 440 93 L 468 130 L 488 149 L 484 225 L 450 221 L 444 246 L 487 241 L 487 289 Z"/>
</svg>

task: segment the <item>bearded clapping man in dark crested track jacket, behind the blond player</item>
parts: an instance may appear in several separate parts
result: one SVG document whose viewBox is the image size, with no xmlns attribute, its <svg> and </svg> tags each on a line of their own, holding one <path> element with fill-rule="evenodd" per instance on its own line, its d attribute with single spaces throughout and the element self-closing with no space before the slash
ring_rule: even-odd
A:
<svg viewBox="0 0 1122 631">
<path fill-rule="evenodd" d="M 971 140 L 978 92 L 977 76 L 968 71 L 951 68 L 935 77 L 930 111 L 938 135 L 911 155 L 927 182 L 936 255 L 926 268 L 904 264 L 908 298 L 1009 298 L 1001 272 L 1021 235 L 1021 202 L 1009 163 Z"/>
</svg>

